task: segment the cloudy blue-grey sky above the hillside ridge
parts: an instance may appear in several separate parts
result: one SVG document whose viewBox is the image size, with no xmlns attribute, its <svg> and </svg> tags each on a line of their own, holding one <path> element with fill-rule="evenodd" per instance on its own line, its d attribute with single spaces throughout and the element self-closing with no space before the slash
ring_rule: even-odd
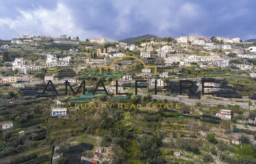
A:
<svg viewBox="0 0 256 164">
<path fill-rule="evenodd" d="M 0 38 L 256 38 L 255 0 L 0 0 Z"/>
</svg>

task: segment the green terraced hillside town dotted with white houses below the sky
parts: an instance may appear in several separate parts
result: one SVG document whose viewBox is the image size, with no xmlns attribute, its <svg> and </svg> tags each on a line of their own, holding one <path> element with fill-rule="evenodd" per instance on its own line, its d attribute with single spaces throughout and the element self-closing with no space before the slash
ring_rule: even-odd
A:
<svg viewBox="0 0 256 164">
<path fill-rule="evenodd" d="M 0 163 L 256 163 L 256 42 L 24 34 L 0 47 Z"/>
</svg>

